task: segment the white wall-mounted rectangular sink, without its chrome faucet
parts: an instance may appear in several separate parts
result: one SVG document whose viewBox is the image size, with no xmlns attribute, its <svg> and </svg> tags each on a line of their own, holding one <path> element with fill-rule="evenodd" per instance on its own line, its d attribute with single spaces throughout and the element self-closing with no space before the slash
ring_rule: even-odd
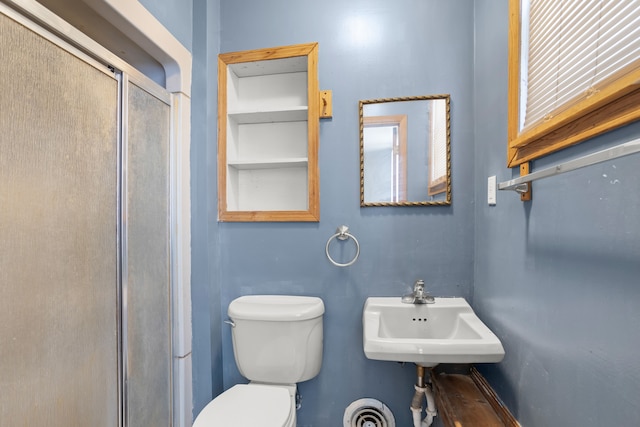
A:
<svg viewBox="0 0 640 427">
<path fill-rule="evenodd" d="M 362 313 L 364 353 L 369 359 L 439 363 L 500 362 L 504 348 L 464 298 L 405 304 L 400 297 L 370 297 Z"/>
</svg>

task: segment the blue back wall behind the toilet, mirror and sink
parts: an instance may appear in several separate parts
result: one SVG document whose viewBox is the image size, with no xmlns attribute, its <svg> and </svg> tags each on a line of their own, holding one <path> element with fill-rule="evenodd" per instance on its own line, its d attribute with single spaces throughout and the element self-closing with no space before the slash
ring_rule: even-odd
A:
<svg viewBox="0 0 640 427">
<path fill-rule="evenodd" d="M 320 88 L 333 91 L 333 119 L 320 125 L 320 222 L 219 224 L 223 310 L 245 294 L 320 296 L 324 364 L 299 385 L 299 426 L 342 425 L 362 397 L 409 425 L 415 368 L 364 357 L 362 307 L 369 295 L 406 293 L 417 278 L 436 295 L 472 295 L 473 3 L 236 0 L 221 2 L 220 19 L 221 52 L 319 42 Z M 358 101 L 439 93 L 452 100 L 453 206 L 360 208 Z M 324 254 L 342 224 L 361 245 L 348 268 Z M 224 328 L 222 343 L 225 387 L 245 382 Z"/>
</svg>

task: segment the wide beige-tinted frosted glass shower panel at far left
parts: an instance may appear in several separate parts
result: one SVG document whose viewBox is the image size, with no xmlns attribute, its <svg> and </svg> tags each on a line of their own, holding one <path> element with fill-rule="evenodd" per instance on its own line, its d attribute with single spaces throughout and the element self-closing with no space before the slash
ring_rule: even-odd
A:
<svg viewBox="0 0 640 427">
<path fill-rule="evenodd" d="M 0 425 L 119 423 L 118 81 L 0 13 Z"/>
</svg>

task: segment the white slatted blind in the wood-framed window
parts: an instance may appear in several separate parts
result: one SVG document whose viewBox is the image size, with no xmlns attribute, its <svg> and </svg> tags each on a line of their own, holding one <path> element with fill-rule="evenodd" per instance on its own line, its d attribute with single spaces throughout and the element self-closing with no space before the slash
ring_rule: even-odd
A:
<svg viewBox="0 0 640 427">
<path fill-rule="evenodd" d="M 522 0 L 521 10 L 520 130 L 640 69 L 640 0 Z"/>
</svg>

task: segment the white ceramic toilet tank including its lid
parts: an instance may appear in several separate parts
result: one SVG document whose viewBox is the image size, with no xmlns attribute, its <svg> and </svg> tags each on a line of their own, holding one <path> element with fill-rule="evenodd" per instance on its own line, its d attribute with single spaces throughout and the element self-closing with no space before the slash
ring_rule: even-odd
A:
<svg viewBox="0 0 640 427">
<path fill-rule="evenodd" d="M 322 366 L 324 303 L 317 297 L 248 295 L 231 301 L 233 352 L 251 381 L 295 384 Z"/>
</svg>

